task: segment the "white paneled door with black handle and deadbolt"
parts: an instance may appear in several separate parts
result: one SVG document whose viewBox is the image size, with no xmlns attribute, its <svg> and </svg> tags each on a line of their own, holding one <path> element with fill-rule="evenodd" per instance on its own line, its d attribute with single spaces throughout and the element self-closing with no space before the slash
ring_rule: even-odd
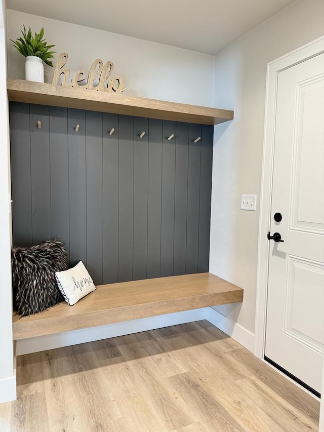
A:
<svg viewBox="0 0 324 432">
<path fill-rule="evenodd" d="M 275 213 L 282 215 L 281 221 L 274 220 Z M 269 240 L 265 356 L 320 392 L 324 54 L 278 73 L 270 232 L 279 233 L 284 242 Z"/>
</svg>

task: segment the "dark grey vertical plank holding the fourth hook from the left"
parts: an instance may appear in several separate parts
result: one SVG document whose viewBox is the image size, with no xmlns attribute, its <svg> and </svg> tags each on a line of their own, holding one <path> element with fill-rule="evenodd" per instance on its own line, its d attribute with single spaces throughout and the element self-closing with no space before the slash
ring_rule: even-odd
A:
<svg viewBox="0 0 324 432">
<path fill-rule="evenodd" d="M 143 138 L 140 134 L 145 131 Z M 134 247 L 133 280 L 147 271 L 148 119 L 134 117 Z"/>
</svg>

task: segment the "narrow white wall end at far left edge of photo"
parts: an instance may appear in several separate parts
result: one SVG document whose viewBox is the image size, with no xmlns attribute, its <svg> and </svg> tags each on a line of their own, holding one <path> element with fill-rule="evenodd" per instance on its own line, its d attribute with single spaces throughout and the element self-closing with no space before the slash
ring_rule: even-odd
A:
<svg viewBox="0 0 324 432">
<path fill-rule="evenodd" d="M 6 67 L 6 5 L 0 0 L 0 403 L 16 398 L 12 343 L 10 173 Z"/>
</svg>

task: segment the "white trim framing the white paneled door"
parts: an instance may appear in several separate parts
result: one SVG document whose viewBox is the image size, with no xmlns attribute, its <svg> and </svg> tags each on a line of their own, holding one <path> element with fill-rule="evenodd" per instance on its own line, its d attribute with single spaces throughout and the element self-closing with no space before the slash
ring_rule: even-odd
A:
<svg viewBox="0 0 324 432">
<path fill-rule="evenodd" d="M 278 73 L 321 53 L 324 53 L 324 36 L 267 64 L 254 344 L 254 355 L 259 359 L 263 359 L 265 354 L 268 259 L 270 250 L 267 232 L 269 231 L 271 218 L 270 212 Z"/>
</svg>

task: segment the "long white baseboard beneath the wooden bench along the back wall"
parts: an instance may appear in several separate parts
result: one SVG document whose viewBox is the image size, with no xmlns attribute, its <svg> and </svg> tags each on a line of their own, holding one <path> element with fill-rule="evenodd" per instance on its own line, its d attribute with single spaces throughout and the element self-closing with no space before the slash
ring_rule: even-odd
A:
<svg viewBox="0 0 324 432">
<path fill-rule="evenodd" d="M 175 326 L 177 324 L 205 320 L 207 309 L 209 308 L 185 310 L 183 312 L 168 313 L 167 315 L 142 318 L 134 321 L 126 321 L 124 323 L 109 324 L 106 326 L 90 327 L 64 333 L 20 339 L 17 340 L 16 343 L 16 356 L 131 333 L 144 332 L 146 330 Z"/>
</svg>

